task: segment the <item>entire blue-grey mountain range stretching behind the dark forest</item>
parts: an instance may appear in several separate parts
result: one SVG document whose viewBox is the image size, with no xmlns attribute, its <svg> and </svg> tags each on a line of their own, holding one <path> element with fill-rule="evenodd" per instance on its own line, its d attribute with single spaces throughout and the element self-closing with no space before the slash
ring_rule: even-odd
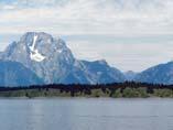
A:
<svg viewBox="0 0 173 130">
<path fill-rule="evenodd" d="M 173 62 L 141 73 L 122 73 L 105 59 L 77 59 L 65 41 L 44 32 L 28 32 L 0 52 L 0 86 L 42 84 L 109 84 L 134 80 L 173 84 Z"/>
</svg>

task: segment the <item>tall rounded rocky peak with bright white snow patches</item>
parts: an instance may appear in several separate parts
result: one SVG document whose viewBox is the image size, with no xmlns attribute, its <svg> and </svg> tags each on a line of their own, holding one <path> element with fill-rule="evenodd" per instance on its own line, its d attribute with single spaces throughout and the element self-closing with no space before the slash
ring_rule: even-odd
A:
<svg viewBox="0 0 173 130">
<path fill-rule="evenodd" d="M 2 59 L 15 61 L 35 72 L 45 83 L 58 83 L 75 58 L 61 39 L 46 33 L 25 33 L 3 52 Z"/>
</svg>

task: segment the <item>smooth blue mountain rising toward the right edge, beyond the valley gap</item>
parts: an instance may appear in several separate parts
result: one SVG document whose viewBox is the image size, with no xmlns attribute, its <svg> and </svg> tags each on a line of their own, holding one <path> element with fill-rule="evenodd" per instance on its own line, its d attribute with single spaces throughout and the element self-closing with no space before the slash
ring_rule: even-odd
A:
<svg viewBox="0 0 173 130">
<path fill-rule="evenodd" d="M 173 84 L 173 62 L 148 68 L 138 74 L 134 80 L 152 84 Z"/>
</svg>

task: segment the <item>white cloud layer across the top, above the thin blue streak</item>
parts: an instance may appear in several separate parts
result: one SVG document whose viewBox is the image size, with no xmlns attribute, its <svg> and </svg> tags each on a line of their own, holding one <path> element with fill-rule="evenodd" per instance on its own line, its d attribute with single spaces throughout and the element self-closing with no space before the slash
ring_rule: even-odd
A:
<svg viewBox="0 0 173 130">
<path fill-rule="evenodd" d="M 14 0 L 0 4 L 3 7 L 0 28 L 7 33 L 25 30 L 119 35 L 173 32 L 172 0 Z"/>
</svg>

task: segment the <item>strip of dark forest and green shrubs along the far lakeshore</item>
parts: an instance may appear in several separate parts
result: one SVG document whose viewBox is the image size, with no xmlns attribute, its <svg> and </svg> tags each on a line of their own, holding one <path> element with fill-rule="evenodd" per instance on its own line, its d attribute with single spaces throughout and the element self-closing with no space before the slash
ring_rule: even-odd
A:
<svg viewBox="0 0 173 130">
<path fill-rule="evenodd" d="M 111 97 L 148 98 L 173 97 L 173 85 L 144 83 L 115 83 L 101 85 L 63 85 L 0 87 L 0 97 Z"/>
</svg>

